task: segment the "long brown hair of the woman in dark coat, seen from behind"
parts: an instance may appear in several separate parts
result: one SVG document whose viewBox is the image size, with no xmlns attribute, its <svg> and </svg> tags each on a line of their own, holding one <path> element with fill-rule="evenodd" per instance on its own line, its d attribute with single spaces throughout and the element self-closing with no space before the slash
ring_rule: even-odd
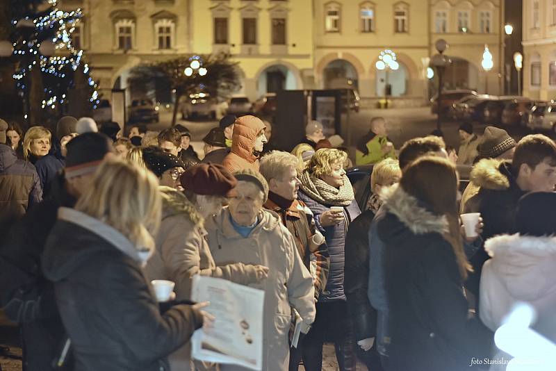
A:
<svg viewBox="0 0 556 371">
<path fill-rule="evenodd" d="M 467 279 L 467 272 L 472 269 L 459 233 L 455 165 L 445 158 L 425 156 L 405 168 L 400 186 L 409 195 L 430 206 L 432 213 L 448 219 L 449 230 L 444 233 L 444 238 L 454 249 L 461 278 Z"/>
</svg>

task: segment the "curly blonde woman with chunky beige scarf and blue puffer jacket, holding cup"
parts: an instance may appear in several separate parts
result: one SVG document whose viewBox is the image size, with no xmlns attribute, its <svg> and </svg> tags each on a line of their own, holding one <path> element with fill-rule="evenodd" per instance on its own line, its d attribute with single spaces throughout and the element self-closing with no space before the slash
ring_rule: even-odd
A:
<svg viewBox="0 0 556 371">
<path fill-rule="evenodd" d="M 355 337 L 343 288 L 347 227 L 361 213 L 343 170 L 347 154 L 319 149 L 301 175 L 299 199 L 313 212 L 317 229 L 326 238 L 330 256 L 328 281 L 316 304 L 317 316 L 304 339 L 307 370 L 322 368 L 322 344 L 332 339 L 340 370 L 354 370 Z"/>
</svg>

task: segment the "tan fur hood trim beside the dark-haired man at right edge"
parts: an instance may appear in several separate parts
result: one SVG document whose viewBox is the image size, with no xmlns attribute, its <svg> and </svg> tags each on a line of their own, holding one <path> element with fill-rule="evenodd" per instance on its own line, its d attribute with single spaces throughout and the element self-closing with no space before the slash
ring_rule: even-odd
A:
<svg viewBox="0 0 556 371">
<path fill-rule="evenodd" d="M 507 190 L 510 186 L 510 163 L 496 158 L 483 158 L 473 166 L 471 181 L 489 190 Z"/>
</svg>

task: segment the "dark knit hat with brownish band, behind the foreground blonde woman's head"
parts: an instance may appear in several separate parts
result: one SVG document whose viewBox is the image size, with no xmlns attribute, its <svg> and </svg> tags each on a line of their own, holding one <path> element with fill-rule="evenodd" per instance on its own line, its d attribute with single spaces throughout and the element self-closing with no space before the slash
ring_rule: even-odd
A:
<svg viewBox="0 0 556 371">
<path fill-rule="evenodd" d="M 66 148 L 66 179 L 95 172 L 104 156 L 114 151 L 110 138 L 101 133 L 77 135 L 67 142 Z"/>
</svg>

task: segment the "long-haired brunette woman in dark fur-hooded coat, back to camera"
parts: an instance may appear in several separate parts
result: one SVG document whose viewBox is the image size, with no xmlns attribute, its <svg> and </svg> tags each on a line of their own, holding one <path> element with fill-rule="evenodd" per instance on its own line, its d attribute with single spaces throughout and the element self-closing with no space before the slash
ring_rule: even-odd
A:
<svg viewBox="0 0 556 371">
<path fill-rule="evenodd" d="M 434 182 L 431 181 L 434 179 Z M 445 158 L 424 157 L 404 168 L 400 185 L 377 215 L 384 242 L 389 371 L 468 370 L 489 358 L 492 333 L 469 317 L 457 212 L 457 172 Z"/>
</svg>

